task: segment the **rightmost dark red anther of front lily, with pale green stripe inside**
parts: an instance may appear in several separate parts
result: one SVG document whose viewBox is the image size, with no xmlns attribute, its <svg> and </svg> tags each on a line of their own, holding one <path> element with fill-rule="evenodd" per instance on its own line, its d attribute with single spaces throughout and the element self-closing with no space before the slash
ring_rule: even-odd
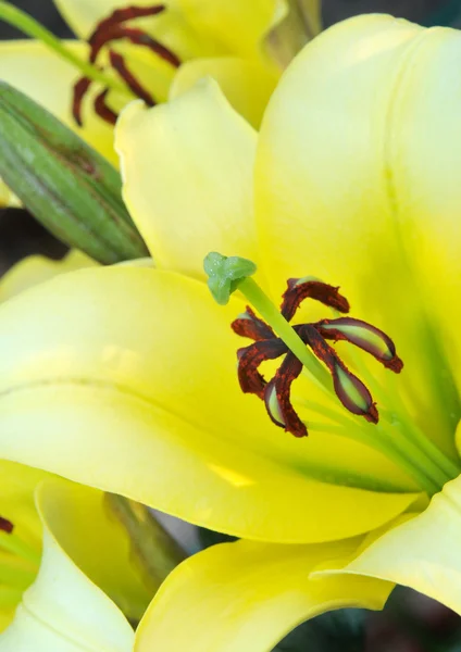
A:
<svg viewBox="0 0 461 652">
<path fill-rule="evenodd" d="M 348 341 L 371 353 L 373 358 L 396 374 L 403 368 L 403 362 L 397 355 L 396 346 L 390 337 L 366 322 L 339 317 L 338 319 L 322 319 L 314 326 L 325 339 Z"/>
</svg>

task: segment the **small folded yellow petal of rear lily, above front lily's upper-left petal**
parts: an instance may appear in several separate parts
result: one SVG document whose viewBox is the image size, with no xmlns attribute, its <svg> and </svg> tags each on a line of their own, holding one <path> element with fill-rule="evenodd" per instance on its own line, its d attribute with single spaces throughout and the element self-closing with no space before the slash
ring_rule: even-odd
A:
<svg viewBox="0 0 461 652">
<path fill-rule="evenodd" d="M 170 98 L 189 90 L 202 77 L 213 77 L 234 109 L 259 128 L 277 77 L 262 65 L 242 59 L 221 57 L 184 63 L 174 78 Z"/>
</svg>

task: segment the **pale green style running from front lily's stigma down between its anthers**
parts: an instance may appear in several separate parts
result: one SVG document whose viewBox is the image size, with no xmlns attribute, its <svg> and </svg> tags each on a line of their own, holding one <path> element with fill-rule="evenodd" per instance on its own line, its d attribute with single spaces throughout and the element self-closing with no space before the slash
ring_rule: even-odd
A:
<svg viewBox="0 0 461 652">
<path fill-rule="evenodd" d="M 311 376 L 313 376 L 321 386 L 329 389 L 331 378 L 326 369 L 310 352 L 299 335 L 291 328 L 256 280 L 247 277 L 239 283 L 238 289 L 248 299 L 251 305 L 257 309 L 263 319 L 271 325 L 275 334 L 286 343 L 288 349 L 302 362 Z"/>
</svg>

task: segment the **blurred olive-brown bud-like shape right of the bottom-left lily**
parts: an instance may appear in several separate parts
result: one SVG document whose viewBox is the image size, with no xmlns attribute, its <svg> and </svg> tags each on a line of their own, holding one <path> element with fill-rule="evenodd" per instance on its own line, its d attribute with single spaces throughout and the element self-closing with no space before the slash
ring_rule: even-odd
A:
<svg viewBox="0 0 461 652">
<path fill-rule="evenodd" d="M 148 507 L 122 496 L 107 493 L 109 506 L 124 526 L 137 560 L 157 590 L 186 553 Z"/>
</svg>

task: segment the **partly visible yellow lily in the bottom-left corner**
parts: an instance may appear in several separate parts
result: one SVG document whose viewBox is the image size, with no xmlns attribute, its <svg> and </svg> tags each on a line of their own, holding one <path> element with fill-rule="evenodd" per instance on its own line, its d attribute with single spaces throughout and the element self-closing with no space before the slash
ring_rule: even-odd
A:
<svg viewBox="0 0 461 652">
<path fill-rule="evenodd" d="M 138 620 L 151 591 L 104 494 L 12 462 L 0 471 L 0 650 L 130 652 L 125 615 Z"/>
</svg>

